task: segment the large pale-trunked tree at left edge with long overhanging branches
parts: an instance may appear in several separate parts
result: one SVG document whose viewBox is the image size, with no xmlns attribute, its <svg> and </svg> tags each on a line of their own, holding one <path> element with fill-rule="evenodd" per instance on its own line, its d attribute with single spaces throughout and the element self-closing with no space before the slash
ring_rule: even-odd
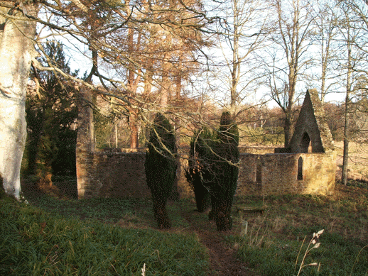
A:
<svg viewBox="0 0 368 276">
<path fill-rule="evenodd" d="M 131 53 L 126 48 L 117 47 L 121 45 L 117 43 L 121 39 L 119 34 L 129 28 L 134 28 L 135 33 L 139 33 L 141 26 L 145 25 L 166 27 L 173 33 L 176 29 L 200 32 L 205 30 L 208 23 L 206 14 L 198 11 L 198 5 L 193 1 L 178 1 L 178 6 L 173 7 L 171 12 L 188 12 L 189 15 L 174 16 L 170 21 L 162 16 L 168 11 L 168 7 L 151 9 L 148 5 L 147 9 L 141 9 L 140 1 L 127 4 L 120 1 L 42 1 L 39 5 L 33 4 L 33 1 L 21 1 L 21 4 L 17 1 L 0 1 L 1 26 L 4 26 L 1 29 L 0 46 L 0 65 L 3 68 L 0 76 L 3 111 L 0 115 L 0 172 L 6 192 L 17 198 L 26 135 L 24 101 L 31 62 L 37 70 L 57 72 L 75 82 L 76 86 L 86 87 L 90 92 L 98 92 L 109 99 L 113 97 L 116 99 L 115 104 L 123 107 L 122 111 L 129 114 L 126 106 L 143 110 L 146 98 L 141 94 L 126 94 L 131 87 L 127 85 L 126 79 L 121 78 L 121 74 L 117 74 L 117 65 L 135 70 L 136 75 L 143 73 L 139 71 L 142 66 L 129 67 L 136 65 L 136 60 L 131 59 Z M 42 14 L 38 15 L 38 9 Z M 36 23 L 39 24 L 37 34 Z M 128 26 L 128 23 L 132 23 L 132 26 Z M 52 62 L 45 67 L 36 60 L 34 45 L 42 52 L 45 38 L 63 38 L 65 48 L 69 48 L 72 55 L 77 53 L 90 58 L 92 70 L 87 81 L 63 72 Z M 109 68 L 101 70 L 102 64 L 109 65 Z M 151 72 L 156 70 L 154 66 L 151 69 Z M 151 76 L 154 79 L 153 74 Z M 156 112 L 158 107 L 152 104 L 149 110 Z"/>
</svg>

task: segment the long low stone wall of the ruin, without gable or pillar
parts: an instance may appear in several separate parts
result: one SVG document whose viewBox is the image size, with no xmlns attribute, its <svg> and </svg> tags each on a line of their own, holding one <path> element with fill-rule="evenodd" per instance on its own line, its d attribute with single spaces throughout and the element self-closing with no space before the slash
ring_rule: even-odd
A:
<svg viewBox="0 0 368 276">
<path fill-rule="evenodd" d="M 144 150 L 83 153 L 80 171 L 85 185 L 78 187 L 82 188 L 79 197 L 151 197 L 144 173 L 145 156 Z M 299 158 L 303 160 L 302 167 L 298 166 Z M 335 158 L 335 153 L 242 153 L 237 195 L 330 194 L 335 186 Z M 180 197 L 191 197 L 193 192 L 184 170 L 180 171 Z"/>
</svg>

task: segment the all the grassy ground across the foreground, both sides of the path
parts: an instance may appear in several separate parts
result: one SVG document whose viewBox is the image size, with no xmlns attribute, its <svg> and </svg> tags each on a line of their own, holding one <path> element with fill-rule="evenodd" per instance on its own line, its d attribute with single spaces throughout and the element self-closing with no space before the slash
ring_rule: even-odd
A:
<svg viewBox="0 0 368 276">
<path fill-rule="evenodd" d="M 209 273 L 212 252 L 197 233 L 210 227 L 212 235 L 215 224 L 194 211 L 193 199 L 171 202 L 173 229 L 158 231 L 150 199 L 24 192 L 29 204 L 0 201 L 0 275 L 141 275 L 144 264 L 146 275 Z M 264 212 L 241 219 L 236 207 L 244 206 Z M 320 246 L 306 255 L 300 275 L 368 275 L 367 184 L 337 185 L 334 197 L 237 197 L 233 217 L 233 231 L 214 234 L 214 241 L 237 252 L 244 275 L 298 275 L 321 229 Z"/>
</svg>

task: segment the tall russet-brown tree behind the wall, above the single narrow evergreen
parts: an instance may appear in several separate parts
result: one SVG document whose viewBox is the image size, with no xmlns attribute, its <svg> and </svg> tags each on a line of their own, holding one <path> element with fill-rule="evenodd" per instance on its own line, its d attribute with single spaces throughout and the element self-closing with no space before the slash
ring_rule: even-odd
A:
<svg viewBox="0 0 368 276">
<path fill-rule="evenodd" d="M 127 37 L 116 48 L 126 48 L 129 60 L 114 67 L 121 72 L 126 70 L 126 93 L 132 98 L 139 96 L 138 89 L 144 90 L 145 102 L 135 101 L 140 108 L 152 109 L 155 106 L 161 111 L 171 109 L 174 97 L 180 97 L 183 82 L 198 69 L 197 52 L 205 45 L 201 33 L 183 24 L 173 26 L 156 23 L 164 19 L 165 22 L 196 24 L 197 18 L 193 11 L 183 8 L 185 4 L 190 6 L 196 3 L 168 1 L 153 4 L 143 1 L 139 11 L 133 9 L 132 13 L 136 14 L 136 18 L 145 21 L 149 16 L 150 20 L 145 24 L 127 24 Z M 121 33 L 121 37 L 124 38 L 124 33 Z M 149 101 L 146 101 L 148 98 Z M 140 109 L 132 106 L 126 108 L 129 110 L 131 147 L 134 148 L 138 145 L 141 113 Z"/>
</svg>

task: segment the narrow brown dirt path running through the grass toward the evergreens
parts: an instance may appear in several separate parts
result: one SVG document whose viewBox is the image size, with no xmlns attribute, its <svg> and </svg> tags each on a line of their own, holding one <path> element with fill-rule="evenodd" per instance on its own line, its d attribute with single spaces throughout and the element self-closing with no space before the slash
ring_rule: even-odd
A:
<svg viewBox="0 0 368 276">
<path fill-rule="evenodd" d="M 196 216 L 203 216 L 197 211 L 185 212 L 183 217 L 190 223 L 195 233 L 200 238 L 200 242 L 205 245 L 210 255 L 210 273 L 208 276 L 254 276 L 247 269 L 247 264 L 243 263 L 236 256 L 236 250 L 224 241 L 226 236 L 232 235 L 232 231 L 217 232 L 216 224 L 213 221 L 203 221 L 196 219 Z"/>
</svg>

